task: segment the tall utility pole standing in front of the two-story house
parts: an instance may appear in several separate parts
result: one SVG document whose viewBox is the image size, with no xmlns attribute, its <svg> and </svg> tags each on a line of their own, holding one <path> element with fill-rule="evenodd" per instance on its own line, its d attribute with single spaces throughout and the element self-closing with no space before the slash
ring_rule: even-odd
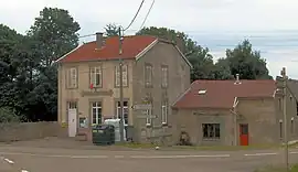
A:
<svg viewBox="0 0 298 172">
<path fill-rule="evenodd" d="M 125 121 L 124 121 L 124 80 L 123 80 L 123 60 L 120 55 L 123 54 L 123 40 L 121 40 L 121 28 L 119 26 L 119 73 L 120 73 L 120 142 L 124 142 L 124 130 L 125 130 Z"/>
</svg>

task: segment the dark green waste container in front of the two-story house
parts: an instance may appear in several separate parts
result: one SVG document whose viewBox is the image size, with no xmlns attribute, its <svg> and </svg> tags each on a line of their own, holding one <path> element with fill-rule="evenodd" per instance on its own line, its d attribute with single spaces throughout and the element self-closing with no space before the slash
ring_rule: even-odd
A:
<svg viewBox="0 0 298 172">
<path fill-rule="evenodd" d="M 111 125 L 97 125 L 92 130 L 93 143 L 109 146 L 115 143 L 115 128 Z"/>
</svg>

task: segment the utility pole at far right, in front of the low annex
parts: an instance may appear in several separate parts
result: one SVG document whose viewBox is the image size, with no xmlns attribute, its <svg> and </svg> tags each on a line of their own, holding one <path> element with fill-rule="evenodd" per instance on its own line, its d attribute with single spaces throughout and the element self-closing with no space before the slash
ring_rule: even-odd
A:
<svg viewBox="0 0 298 172">
<path fill-rule="evenodd" d="M 285 163 L 286 169 L 289 171 L 289 146 L 288 146 L 288 118 L 287 118 L 287 75 L 286 75 L 286 67 L 283 67 L 283 71 L 280 72 L 283 76 L 283 93 L 284 93 L 284 142 L 286 144 L 285 147 Z"/>
</svg>

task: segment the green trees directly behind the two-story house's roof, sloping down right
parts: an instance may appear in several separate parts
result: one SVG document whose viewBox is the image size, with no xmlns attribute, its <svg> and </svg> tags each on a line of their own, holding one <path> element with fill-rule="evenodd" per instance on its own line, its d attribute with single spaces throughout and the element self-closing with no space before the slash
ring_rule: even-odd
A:
<svg viewBox="0 0 298 172">
<path fill-rule="evenodd" d="M 214 64 L 213 57 L 209 52 L 209 49 L 204 49 L 196 44 L 195 41 L 190 39 L 184 32 L 167 28 L 143 28 L 137 35 L 155 35 L 157 37 L 177 41 L 179 35 L 182 39 L 183 50 L 182 53 L 189 58 L 193 68 L 191 71 L 191 79 L 214 79 Z"/>
</svg>

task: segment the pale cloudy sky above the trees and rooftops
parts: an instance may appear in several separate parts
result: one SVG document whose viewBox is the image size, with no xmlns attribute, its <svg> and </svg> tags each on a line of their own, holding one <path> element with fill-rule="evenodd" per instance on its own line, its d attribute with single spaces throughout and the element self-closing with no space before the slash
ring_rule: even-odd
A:
<svg viewBox="0 0 298 172">
<path fill-rule="evenodd" d="M 127 26 L 141 0 L 0 0 L 0 22 L 25 33 L 44 7 L 66 9 L 81 24 L 81 35 L 104 31 L 108 23 Z M 145 0 L 134 34 L 151 6 Z M 145 26 L 183 31 L 207 46 L 215 60 L 249 39 L 266 58 L 270 75 L 287 67 L 298 78 L 298 0 L 156 0 Z M 87 37 L 93 39 L 93 37 Z M 95 39 L 95 37 L 94 37 Z M 84 41 L 84 40 L 81 40 Z"/>
</svg>

